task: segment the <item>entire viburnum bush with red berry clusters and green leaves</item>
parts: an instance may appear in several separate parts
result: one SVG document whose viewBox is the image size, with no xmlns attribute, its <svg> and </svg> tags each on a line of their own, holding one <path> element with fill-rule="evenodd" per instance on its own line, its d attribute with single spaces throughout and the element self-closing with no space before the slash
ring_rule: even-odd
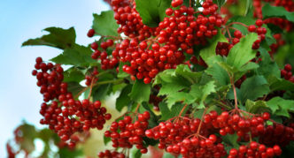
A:
<svg viewBox="0 0 294 158">
<path fill-rule="evenodd" d="M 93 14 L 88 36 L 97 40 L 89 46 L 75 43 L 74 27 L 49 27 L 49 34 L 23 43 L 63 52 L 51 65 L 36 59 L 33 75 L 44 97 L 41 122 L 50 130 L 19 126 L 18 151 L 32 154 L 35 139 L 42 139 L 43 156 L 83 155 L 85 142 L 72 137 L 86 140 L 93 128 L 107 129 L 101 139 L 115 148 L 99 157 L 141 157 L 148 150 L 154 156 L 154 147 L 163 157 L 187 157 L 191 150 L 213 157 L 213 147 L 219 147 L 216 157 L 236 156 L 242 147 L 262 154 L 254 147 L 263 146 L 268 156 L 293 154 L 294 63 L 283 64 L 294 50 L 294 3 L 112 0 L 111 5 L 111 11 Z M 101 102 L 110 98 L 120 115 L 106 113 L 111 108 Z M 111 117 L 115 120 L 105 125 Z M 50 151 L 52 142 L 65 147 Z M 18 154 L 12 152 L 17 147 L 7 148 Z"/>
</svg>

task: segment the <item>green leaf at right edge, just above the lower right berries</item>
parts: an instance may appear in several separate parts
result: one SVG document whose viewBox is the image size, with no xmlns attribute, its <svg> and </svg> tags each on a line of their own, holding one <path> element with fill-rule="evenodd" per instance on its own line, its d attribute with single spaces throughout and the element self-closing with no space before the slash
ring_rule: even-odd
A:
<svg viewBox="0 0 294 158">
<path fill-rule="evenodd" d="M 277 116 L 290 117 L 289 112 L 294 112 L 294 101 L 275 97 L 267 102 L 267 106 Z"/>
</svg>

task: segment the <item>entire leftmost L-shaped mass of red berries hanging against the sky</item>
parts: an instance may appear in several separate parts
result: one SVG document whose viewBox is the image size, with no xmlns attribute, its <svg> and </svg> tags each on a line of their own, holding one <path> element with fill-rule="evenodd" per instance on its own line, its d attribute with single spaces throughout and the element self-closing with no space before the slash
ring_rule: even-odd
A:
<svg viewBox="0 0 294 158">
<path fill-rule="evenodd" d="M 63 68 L 59 64 L 44 64 L 43 59 L 37 57 L 35 69 L 33 75 L 38 79 L 37 85 L 44 96 L 40 123 L 49 124 L 49 128 L 57 132 L 63 141 L 70 139 L 74 132 L 89 131 L 89 128 L 102 130 L 105 121 L 112 117 L 106 114 L 99 101 L 74 100 L 73 94 L 67 92 L 67 84 L 62 82 Z M 74 147 L 75 143 L 70 141 L 68 145 Z"/>
</svg>

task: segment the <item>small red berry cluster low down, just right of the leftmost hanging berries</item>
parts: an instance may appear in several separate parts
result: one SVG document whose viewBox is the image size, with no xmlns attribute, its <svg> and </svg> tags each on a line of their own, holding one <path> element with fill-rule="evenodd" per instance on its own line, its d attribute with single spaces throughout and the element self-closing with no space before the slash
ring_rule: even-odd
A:
<svg viewBox="0 0 294 158">
<path fill-rule="evenodd" d="M 145 154 L 148 150 L 143 146 L 143 137 L 145 137 L 149 119 L 148 111 L 139 114 L 134 123 L 132 123 L 132 117 L 126 116 L 119 122 L 113 122 L 110 131 L 106 131 L 104 135 L 112 139 L 112 147 L 131 148 L 135 145 L 142 154 Z"/>
</svg>

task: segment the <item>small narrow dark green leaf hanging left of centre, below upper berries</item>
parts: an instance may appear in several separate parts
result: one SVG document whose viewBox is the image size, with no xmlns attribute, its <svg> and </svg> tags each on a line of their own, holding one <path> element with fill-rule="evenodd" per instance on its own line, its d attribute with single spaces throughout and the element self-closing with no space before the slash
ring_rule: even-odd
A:
<svg viewBox="0 0 294 158">
<path fill-rule="evenodd" d="M 129 105 L 131 99 L 129 98 L 128 94 L 131 92 L 131 90 L 131 85 L 128 85 L 121 90 L 120 96 L 116 99 L 115 102 L 115 109 L 121 111 L 121 109 Z"/>
</svg>

